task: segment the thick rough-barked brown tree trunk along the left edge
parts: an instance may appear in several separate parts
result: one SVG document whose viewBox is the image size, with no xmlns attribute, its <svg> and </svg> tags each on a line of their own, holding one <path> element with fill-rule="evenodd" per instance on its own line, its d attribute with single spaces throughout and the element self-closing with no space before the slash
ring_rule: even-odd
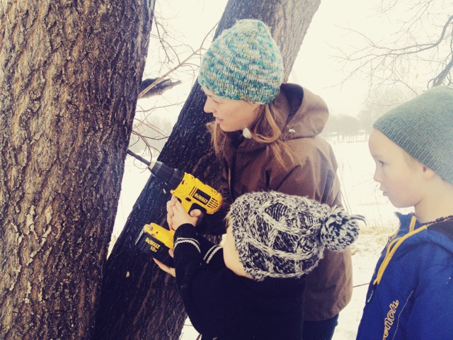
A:
<svg viewBox="0 0 453 340">
<path fill-rule="evenodd" d="M 154 0 L 0 3 L 0 339 L 89 339 Z"/>
</svg>

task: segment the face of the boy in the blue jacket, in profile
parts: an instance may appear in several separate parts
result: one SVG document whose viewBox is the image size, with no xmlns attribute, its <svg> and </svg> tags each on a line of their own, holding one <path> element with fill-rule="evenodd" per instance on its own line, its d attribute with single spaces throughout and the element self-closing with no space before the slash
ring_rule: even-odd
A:
<svg viewBox="0 0 453 340">
<path fill-rule="evenodd" d="M 423 200 L 423 164 L 408 159 L 401 147 L 379 130 L 369 135 L 369 152 L 376 163 L 374 181 L 396 208 L 418 205 Z"/>
</svg>

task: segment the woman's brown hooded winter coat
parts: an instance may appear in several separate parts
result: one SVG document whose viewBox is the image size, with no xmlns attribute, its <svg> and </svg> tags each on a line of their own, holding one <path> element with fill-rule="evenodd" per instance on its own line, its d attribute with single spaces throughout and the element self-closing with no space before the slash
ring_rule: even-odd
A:
<svg viewBox="0 0 453 340">
<path fill-rule="evenodd" d="M 282 84 L 275 104 L 281 115 L 277 122 L 292 159 L 282 155 L 287 164 L 284 169 L 268 159 L 263 145 L 237 133 L 229 134 L 223 186 L 231 197 L 228 191 L 222 191 L 226 202 L 231 203 L 243 193 L 273 190 L 341 205 L 336 159 L 331 146 L 318 136 L 328 119 L 326 103 L 298 85 Z M 324 251 L 319 266 L 307 276 L 305 289 L 305 321 L 330 319 L 338 314 L 352 295 L 350 250 Z"/>
</svg>

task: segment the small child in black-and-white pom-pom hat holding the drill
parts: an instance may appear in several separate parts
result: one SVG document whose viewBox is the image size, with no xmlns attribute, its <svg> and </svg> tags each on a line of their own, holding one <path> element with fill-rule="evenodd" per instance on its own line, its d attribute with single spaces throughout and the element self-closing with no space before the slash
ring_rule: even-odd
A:
<svg viewBox="0 0 453 340">
<path fill-rule="evenodd" d="M 276 191 L 246 193 L 231 205 L 224 246 L 197 234 L 176 199 L 171 211 L 173 276 L 202 339 L 302 339 L 304 276 L 326 247 L 355 241 L 357 216 Z"/>
</svg>

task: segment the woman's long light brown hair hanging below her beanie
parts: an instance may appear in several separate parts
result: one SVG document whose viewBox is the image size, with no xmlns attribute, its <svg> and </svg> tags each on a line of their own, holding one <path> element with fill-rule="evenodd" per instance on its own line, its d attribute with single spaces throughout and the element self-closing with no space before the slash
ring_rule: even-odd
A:
<svg viewBox="0 0 453 340">
<path fill-rule="evenodd" d="M 268 160 L 275 159 L 280 166 L 286 167 L 288 164 L 285 164 L 282 155 L 287 154 L 292 158 L 292 154 L 288 152 L 289 147 L 285 142 L 282 130 L 280 130 L 275 120 L 275 117 L 280 117 L 275 104 L 273 102 L 263 104 L 257 110 L 258 114 L 250 128 L 251 139 L 265 145 Z M 212 145 L 214 146 L 215 154 L 220 159 L 224 156 L 225 137 L 225 132 L 215 123 L 214 131 L 212 132 Z"/>
</svg>

